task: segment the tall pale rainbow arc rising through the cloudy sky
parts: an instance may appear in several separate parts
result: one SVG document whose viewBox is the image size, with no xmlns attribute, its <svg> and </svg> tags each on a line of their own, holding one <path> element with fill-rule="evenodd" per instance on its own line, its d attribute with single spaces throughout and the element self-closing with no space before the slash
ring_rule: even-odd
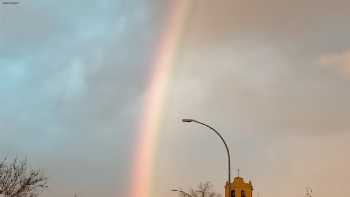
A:
<svg viewBox="0 0 350 197">
<path fill-rule="evenodd" d="M 191 0 L 171 0 L 165 28 L 160 34 L 154 70 L 149 80 L 144 109 L 139 123 L 136 154 L 133 159 L 130 197 L 149 197 L 157 135 L 161 122 L 162 105 L 171 69 L 176 59 Z"/>
</svg>

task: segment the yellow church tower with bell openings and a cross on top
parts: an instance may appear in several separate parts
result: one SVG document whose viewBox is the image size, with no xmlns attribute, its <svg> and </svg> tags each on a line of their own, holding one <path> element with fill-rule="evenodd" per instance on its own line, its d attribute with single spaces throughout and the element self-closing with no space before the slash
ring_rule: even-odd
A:
<svg viewBox="0 0 350 197">
<path fill-rule="evenodd" d="M 252 182 L 244 182 L 242 177 L 234 178 L 232 183 L 226 183 L 225 185 L 225 197 L 252 197 L 253 185 Z"/>
</svg>

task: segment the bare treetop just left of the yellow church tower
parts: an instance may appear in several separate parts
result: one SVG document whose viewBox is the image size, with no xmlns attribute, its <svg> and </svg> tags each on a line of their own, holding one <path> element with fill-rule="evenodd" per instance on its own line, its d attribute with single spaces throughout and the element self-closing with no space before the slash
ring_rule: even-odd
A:
<svg viewBox="0 0 350 197">
<path fill-rule="evenodd" d="M 183 190 L 172 190 L 179 192 L 182 197 L 221 197 L 221 194 L 213 191 L 213 185 L 210 182 L 200 183 L 197 189 L 190 189 L 189 192 Z"/>
</svg>

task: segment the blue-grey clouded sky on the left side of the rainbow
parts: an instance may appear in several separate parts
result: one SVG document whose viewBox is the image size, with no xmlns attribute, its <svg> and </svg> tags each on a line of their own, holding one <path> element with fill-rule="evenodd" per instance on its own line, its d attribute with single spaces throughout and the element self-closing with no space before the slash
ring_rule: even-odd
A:
<svg viewBox="0 0 350 197">
<path fill-rule="evenodd" d="M 0 156 L 28 156 L 54 196 L 123 196 L 164 4 L 0 6 Z"/>
</svg>

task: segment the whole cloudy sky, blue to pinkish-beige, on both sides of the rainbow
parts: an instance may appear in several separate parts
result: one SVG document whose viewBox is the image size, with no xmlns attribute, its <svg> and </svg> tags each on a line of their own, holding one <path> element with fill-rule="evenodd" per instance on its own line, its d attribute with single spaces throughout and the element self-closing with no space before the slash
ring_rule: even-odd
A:
<svg viewBox="0 0 350 197">
<path fill-rule="evenodd" d="M 173 1 L 173 0 L 171 0 Z M 170 0 L 0 5 L 0 156 L 49 177 L 43 197 L 127 196 Z M 180 1 L 180 0 L 179 0 Z M 152 196 L 232 171 L 259 197 L 350 195 L 350 2 L 193 0 L 167 76 Z"/>
</svg>

